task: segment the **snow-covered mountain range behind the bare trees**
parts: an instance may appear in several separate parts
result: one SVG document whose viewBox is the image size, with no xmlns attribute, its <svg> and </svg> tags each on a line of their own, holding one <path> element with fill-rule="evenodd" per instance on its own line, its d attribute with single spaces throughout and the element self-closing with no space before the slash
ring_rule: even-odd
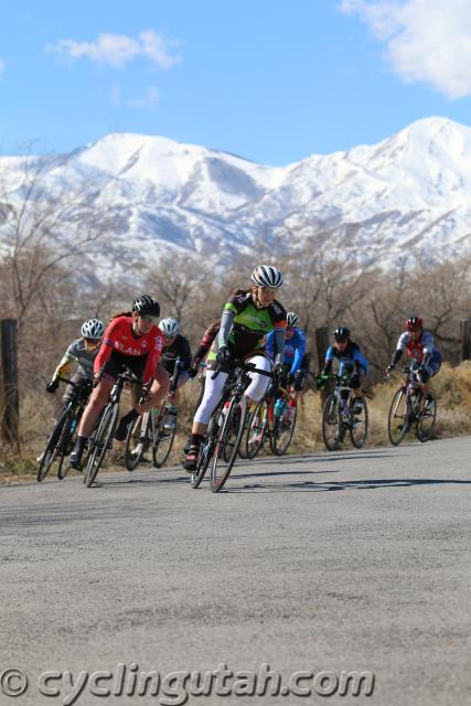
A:
<svg viewBox="0 0 471 706">
<path fill-rule="evenodd" d="M 17 197 L 22 164 L 0 158 L 0 180 Z M 287 248 L 347 249 L 360 265 L 383 267 L 406 253 L 431 264 L 471 249 L 471 128 L 443 118 L 285 168 L 162 137 L 108 135 L 45 174 L 51 193 L 84 182 L 96 213 L 116 218 L 96 256 L 108 271 L 110 261 L 157 260 L 169 248 L 223 263 L 272 236 Z M 69 224 L 63 237 L 74 237 Z"/>
</svg>

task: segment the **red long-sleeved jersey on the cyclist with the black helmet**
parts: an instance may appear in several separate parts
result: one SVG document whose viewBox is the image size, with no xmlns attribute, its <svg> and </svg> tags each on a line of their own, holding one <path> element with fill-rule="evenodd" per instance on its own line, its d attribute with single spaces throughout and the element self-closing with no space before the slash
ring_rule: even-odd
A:
<svg viewBox="0 0 471 706">
<path fill-rule="evenodd" d="M 163 341 L 163 333 L 157 325 L 153 325 L 148 333 L 136 335 L 132 330 L 132 317 L 116 317 L 106 328 L 101 346 L 95 359 L 94 373 L 101 371 L 113 351 L 130 359 L 146 355 L 142 374 L 142 382 L 146 384 L 156 374 Z"/>
</svg>

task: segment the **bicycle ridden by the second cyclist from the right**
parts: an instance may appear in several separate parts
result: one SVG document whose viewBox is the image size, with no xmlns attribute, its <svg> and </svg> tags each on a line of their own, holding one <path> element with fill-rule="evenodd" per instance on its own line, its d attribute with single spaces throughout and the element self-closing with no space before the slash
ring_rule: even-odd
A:
<svg viewBox="0 0 471 706">
<path fill-rule="evenodd" d="M 334 392 L 328 396 L 322 410 L 322 440 L 328 451 L 336 451 L 346 432 L 356 449 L 361 449 L 368 432 L 368 408 L 363 398 L 361 408 L 353 395 L 349 375 L 324 375 L 323 381 L 335 382 Z M 345 395 L 346 393 L 346 395 Z"/>
</svg>

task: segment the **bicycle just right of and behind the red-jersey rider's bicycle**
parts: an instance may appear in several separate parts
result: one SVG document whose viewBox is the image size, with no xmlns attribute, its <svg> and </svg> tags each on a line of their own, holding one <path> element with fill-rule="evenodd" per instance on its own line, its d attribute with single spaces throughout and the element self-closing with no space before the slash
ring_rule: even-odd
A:
<svg viewBox="0 0 471 706">
<path fill-rule="evenodd" d="M 179 385 L 183 362 L 175 361 L 170 392 L 174 393 Z M 144 453 L 152 448 L 152 462 L 161 468 L 169 458 L 176 434 L 176 409 L 167 398 L 159 411 L 150 409 L 139 416 L 128 431 L 125 447 L 125 466 L 133 471 L 139 466 Z"/>
</svg>

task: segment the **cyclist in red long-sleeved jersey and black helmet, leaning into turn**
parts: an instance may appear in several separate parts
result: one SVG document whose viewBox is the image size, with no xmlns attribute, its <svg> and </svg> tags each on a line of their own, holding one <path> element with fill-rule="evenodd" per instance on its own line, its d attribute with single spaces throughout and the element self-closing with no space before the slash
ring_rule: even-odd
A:
<svg viewBox="0 0 471 706">
<path fill-rule="evenodd" d="M 129 426 L 139 414 L 160 404 L 169 392 L 168 376 L 162 373 L 159 375 L 157 370 L 163 347 L 163 334 L 158 328 L 159 314 L 159 302 L 149 295 L 142 295 L 135 299 L 130 312 L 114 317 L 106 328 L 94 363 L 95 387 L 84 410 L 77 440 L 71 453 L 73 468 L 79 468 L 87 439 L 122 370 L 130 368 L 135 375 L 142 377 L 143 385 L 151 384 L 151 387 L 147 399 L 135 404 L 131 411 L 121 418 L 115 434 L 120 441 L 126 438 Z"/>
</svg>

